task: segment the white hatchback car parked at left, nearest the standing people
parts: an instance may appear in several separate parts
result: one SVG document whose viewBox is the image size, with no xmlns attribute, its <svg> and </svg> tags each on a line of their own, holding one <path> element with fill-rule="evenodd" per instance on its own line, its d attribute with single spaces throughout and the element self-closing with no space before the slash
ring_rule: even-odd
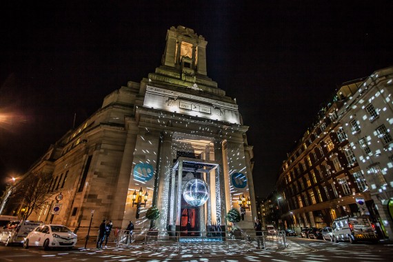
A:
<svg viewBox="0 0 393 262">
<path fill-rule="evenodd" d="M 77 244 L 77 235 L 64 225 L 41 225 L 30 232 L 23 241 L 23 248 L 69 248 Z"/>
</svg>

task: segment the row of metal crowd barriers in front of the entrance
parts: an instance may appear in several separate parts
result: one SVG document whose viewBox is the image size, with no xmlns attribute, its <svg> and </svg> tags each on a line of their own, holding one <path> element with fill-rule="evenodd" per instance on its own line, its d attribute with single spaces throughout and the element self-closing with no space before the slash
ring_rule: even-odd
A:
<svg viewBox="0 0 393 262">
<path fill-rule="evenodd" d="M 261 231 L 257 236 L 253 231 L 150 231 L 150 230 L 119 230 L 114 239 L 117 248 L 132 248 L 159 251 L 165 248 L 170 252 L 248 252 L 254 250 L 257 240 L 260 248 L 265 250 L 286 248 L 288 246 L 285 231 L 275 233 Z"/>
</svg>

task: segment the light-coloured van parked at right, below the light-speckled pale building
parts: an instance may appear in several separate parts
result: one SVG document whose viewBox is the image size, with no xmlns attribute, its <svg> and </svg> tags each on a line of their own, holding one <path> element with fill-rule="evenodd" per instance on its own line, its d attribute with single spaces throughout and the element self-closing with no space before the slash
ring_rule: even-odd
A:
<svg viewBox="0 0 393 262">
<path fill-rule="evenodd" d="M 379 241 L 374 225 L 366 216 L 343 216 L 332 225 L 332 241 Z"/>
</svg>

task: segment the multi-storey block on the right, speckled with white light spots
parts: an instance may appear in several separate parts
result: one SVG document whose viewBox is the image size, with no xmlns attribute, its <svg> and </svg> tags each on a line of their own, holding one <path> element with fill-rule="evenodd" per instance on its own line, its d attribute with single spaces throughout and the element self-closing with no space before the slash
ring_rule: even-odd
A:
<svg viewBox="0 0 393 262">
<path fill-rule="evenodd" d="M 288 154 L 272 196 L 285 227 L 370 216 L 392 238 L 393 68 L 343 83 Z"/>
</svg>

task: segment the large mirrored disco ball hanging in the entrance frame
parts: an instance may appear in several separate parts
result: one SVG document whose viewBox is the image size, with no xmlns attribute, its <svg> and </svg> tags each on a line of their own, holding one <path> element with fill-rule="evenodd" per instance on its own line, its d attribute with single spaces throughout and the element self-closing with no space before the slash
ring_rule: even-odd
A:
<svg viewBox="0 0 393 262">
<path fill-rule="evenodd" d="M 208 185 L 201 179 L 191 179 L 184 185 L 183 197 L 188 205 L 199 207 L 208 201 Z"/>
</svg>

